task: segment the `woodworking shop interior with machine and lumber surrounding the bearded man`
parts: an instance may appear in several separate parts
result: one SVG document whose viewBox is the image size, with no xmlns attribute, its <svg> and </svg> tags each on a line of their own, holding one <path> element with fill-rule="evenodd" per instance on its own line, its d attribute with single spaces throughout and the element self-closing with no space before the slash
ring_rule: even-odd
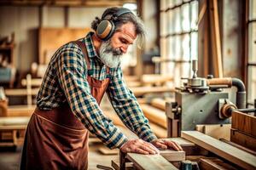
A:
<svg viewBox="0 0 256 170">
<path fill-rule="evenodd" d="M 90 133 L 88 169 L 256 169 L 255 0 L 0 1 L 0 169 L 20 169 L 51 57 L 115 6 L 137 14 L 147 33 L 121 57 L 124 82 L 157 138 L 183 150 L 124 153 Z M 138 138 L 106 94 L 100 107 Z"/>
</svg>

